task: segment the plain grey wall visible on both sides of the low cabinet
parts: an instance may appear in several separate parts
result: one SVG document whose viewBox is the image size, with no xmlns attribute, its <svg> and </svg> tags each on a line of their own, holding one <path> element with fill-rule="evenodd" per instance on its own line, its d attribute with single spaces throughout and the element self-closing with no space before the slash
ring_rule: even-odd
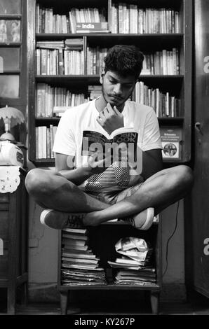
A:
<svg viewBox="0 0 209 329">
<path fill-rule="evenodd" d="M 29 169 L 33 165 L 29 164 Z M 41 207 L 29 199 L 29 297 L 34 300 L 58 299 L 56 291 L 58 269 L 58 231 L 41 225 Z M 177 204 L 162 213 L 163 272 L 166 269 L 166 244 L 175 228 Z M 184 299 L 184 202 L 181 200 L 177 229 L 168 244 L 168 268 L 163 276 L 161 296 Z"/>
</svg>

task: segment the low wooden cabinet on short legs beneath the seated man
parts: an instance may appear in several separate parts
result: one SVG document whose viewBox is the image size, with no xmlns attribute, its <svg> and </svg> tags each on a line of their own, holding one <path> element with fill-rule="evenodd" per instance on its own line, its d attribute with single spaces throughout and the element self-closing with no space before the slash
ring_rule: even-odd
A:
<svg viewBox="0 0 209 329">
<path fill-rule="evenodd" d="M 160 217 L 160 216 L 159 216 Z M 136 292 L 147 290 L 150 295 L 150 312 L 159 314 L 159 295 L 162 284 L 162 260 L 161 260 L 161 218 L 159 223 L 154 223 L 147 231 L 137 230 L 130 225 L 122 222 L 104 223 L 95 228 L 89 229 L 89 245 L 93 252 L 100 258 L 100 266 L 104 268 L 107 285 L 103 286 L 64 286 L 61 278 L 62 267 L 62 231 L 59 232 L 59 251 L 58 251 L 58 290 L 60 291 L 61 313 L 67 314 L 68 297 L 71 290 L 135 290 Z M 151 262 L 156 268 L 156 283 L 144 284 L 142 286 L 135 284 L 116 284 L 114 276 L 116 269 L 112 269 L 107 260 L 114 261 L 119 253 L 116 253 L 115 244 L 123 237 L 140 237 L 154 248 Z M 140 304 L 138 305 L 140 312 Z M 93 311 L 93 310 L 92 310 Z M 131 311 L 131 310 L 130 310 Z"/>
</svg>

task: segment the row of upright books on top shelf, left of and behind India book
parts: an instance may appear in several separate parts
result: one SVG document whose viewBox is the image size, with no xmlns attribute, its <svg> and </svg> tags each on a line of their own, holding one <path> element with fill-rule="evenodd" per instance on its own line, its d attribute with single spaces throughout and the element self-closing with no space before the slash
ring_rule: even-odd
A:
<svg viewBox="0 0 209 329">
<path fill-rule="evenodd" d="M 106 22 L 105 8 L 71 8 L 67 15 L 36 5 L 36 33 L 76 33 L 76 23 Z"/>
</svg>

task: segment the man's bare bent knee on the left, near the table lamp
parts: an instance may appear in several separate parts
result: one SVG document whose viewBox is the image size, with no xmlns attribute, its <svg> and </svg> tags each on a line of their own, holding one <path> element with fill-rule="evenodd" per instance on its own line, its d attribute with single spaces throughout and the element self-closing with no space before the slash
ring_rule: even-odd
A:
<svg viewBox="0 0 209 329">
<path fill-rule="evenodd" d="M 27 192 L 31 195 L 38 195 L 44 193 L 50 188 L 50 175 L 46 170 L 35 168 L 27 173 L 25 178 L 25 187 Z"/>
</svg>

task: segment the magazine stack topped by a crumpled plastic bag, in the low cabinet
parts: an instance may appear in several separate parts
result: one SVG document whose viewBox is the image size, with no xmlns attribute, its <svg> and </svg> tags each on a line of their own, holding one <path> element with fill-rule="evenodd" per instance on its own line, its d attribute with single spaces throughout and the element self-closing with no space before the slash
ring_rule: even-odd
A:
<svg viewBox="0 0 209 329">
<path fill-rule="evenodd" d="M 116 284 L 135 284 L 144 286 L 156 284 L 156 269 L 151 265 L 151 248 L 144 239 L 126 237 L 120 239 L 115 245 L 116 251 L 121 254 L 109 265 L 117 269 Z"/>
</svg>

